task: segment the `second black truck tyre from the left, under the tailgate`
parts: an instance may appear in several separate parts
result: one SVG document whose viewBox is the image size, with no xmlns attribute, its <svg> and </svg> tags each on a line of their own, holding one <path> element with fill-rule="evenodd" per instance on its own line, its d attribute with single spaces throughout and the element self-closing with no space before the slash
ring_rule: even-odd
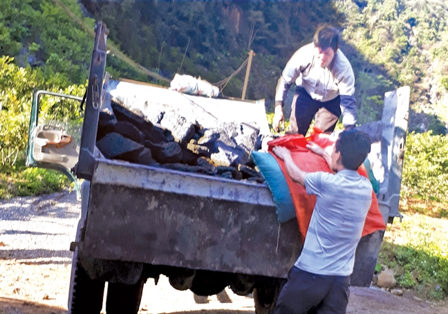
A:
<svg viewBox="0 0 448 314">
<path fill-rule="evenodd" d="M 142 300 L 144 281 L 127 285 L 109 283 L 107 286 L 106 313 L 107 314 L 137 314 Z"/>
</svg>

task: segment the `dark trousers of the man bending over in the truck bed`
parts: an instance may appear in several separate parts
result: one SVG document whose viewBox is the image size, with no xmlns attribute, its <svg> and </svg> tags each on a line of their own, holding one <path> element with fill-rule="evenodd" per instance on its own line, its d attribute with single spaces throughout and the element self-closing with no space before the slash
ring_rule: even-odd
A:
<svg viewBox="0 0 448 314">
<path fill-rule="evenodd" d="M 336 127 L 341 116 L 341 96 L 328 102 L 313 100 L 303 87 L 297 86 L 292 99 L 291 116 L 288 132 L 306 136 L 312 118 L 315 117 L 315 127 L 326 134 L 330 134 Z"/>
</svg>

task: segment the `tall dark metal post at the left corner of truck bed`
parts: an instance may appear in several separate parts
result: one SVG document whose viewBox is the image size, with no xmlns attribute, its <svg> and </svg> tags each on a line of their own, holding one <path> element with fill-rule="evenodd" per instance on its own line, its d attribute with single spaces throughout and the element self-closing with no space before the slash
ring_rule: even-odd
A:
<svg viewBox="0 0 448 314">
<path fill-rule="evenodd" d="M 78 178 L 91 180 L 95 158 L 95 141 L 100 116 L 101 95 L 106 67 L 106 40 L 109 30 L 101 21 L 95 26 L 95 46 L 93 47 L 90 73 L 88 76 L 88 89 L 86 97 L 86 109 L 82 124 L 82 136 L 80 147 L 80 160 L 75 168 Z"/>
</svg>

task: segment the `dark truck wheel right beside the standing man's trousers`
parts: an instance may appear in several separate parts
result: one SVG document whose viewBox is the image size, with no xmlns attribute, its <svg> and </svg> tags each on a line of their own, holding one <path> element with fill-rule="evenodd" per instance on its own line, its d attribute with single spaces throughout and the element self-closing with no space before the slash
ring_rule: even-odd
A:
<svg viewBox="0 0 448 314">
<path fill-rule="evenodd" d="M 254 288 L 254 305 L 256 314 L 270 314 L 279 298 L 285 280 L 276 280 L 270 284 L 263 284 Z"/>
</svg>

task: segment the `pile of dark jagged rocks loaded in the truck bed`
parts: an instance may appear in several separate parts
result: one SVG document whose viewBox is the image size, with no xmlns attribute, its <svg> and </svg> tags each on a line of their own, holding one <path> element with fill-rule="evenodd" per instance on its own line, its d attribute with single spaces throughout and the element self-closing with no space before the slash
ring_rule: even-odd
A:
<svg viewBox="0 0 448 314">
<path fill-rule="evenodd" d="M 111 102 L 100 112 L 96 146 L 108 159 L 263 183 L 249 157 L 261 147 L 259 129 L 219 120 L 213 125 L 204 128 L 170 111 L 144 116 Z"/>
</svg>

